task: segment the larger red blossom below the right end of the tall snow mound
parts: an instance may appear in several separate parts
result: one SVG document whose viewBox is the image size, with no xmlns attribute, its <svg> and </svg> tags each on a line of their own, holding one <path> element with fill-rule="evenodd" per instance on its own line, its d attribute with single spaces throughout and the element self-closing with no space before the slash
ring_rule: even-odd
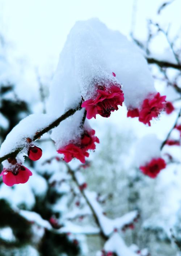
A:
<svg viewBox="0 0 181 256">
<path fill-rule="evenodd" d="M 139 112 L 139 121 L 145 125 L 148 123 L 151 126 L 150 121 L 152 118 L 159 116 L 160 112 L 165 108 L 166 96 L 160 96 L 158 92 L 151 100 L 145 99 L 143 101 L 142 109 Z"/>
</svg>

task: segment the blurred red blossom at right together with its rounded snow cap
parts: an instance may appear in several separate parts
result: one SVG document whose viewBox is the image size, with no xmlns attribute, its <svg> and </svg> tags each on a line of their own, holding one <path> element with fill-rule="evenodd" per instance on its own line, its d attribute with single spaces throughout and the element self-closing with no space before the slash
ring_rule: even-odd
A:
<svg viewBox="0 0 181 256">
<path fill-rule="evenodd" d="M 146 135 L 136 145 L 135 161 L 139 169 L 151 178 L 155 178 L 166 167 L 160 148 L 161 141 L 153 134 Z"/>
</svg>

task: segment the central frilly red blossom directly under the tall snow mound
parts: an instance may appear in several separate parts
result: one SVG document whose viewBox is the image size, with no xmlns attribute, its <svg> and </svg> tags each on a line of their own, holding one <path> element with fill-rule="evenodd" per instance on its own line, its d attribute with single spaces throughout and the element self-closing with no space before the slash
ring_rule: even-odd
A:
<svg viewBox="0 0 181 256">
<path fill-rule="evenodd" d="M 119 85 L 120 86 L 120 85 Z M 104 86 L 97 90 L 95 100 L 90 99 L 81 105 L 87 110 L 87 118 L 96 118 L 97 114 L 102 117 L 110 117 L 111 112 L 118 110 L 118 105 L 122 106 L 124 94 L 120 87 L 112 85 L 108 90 Z"/>
</svg>

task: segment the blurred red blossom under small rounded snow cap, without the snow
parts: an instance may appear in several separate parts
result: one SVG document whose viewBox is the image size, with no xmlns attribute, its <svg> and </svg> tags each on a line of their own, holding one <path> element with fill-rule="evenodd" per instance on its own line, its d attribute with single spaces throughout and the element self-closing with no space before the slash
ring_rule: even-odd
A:
<svg viewBox="0 0 181 256">
<path fill-rule="evenodd" d="M 165 160 L 162 158 L 153 158 L 150 163 L 140 166 L 139 169 L 151 178 L 156 178 L 159 172 L 166 167 Z"/>
</svg>

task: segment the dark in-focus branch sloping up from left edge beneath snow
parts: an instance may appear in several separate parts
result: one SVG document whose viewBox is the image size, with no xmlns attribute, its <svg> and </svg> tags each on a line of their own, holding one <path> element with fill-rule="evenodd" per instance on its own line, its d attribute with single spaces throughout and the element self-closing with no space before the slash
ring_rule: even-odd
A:
<svg viewBox="0 0 181 256">
<path fill-rule="evenodd" d="M 34 137 L 33 137 L 33 141 L 39 139 L 43 134 L 47 133 L 48 131 L 50 131 L 51 129 L 57 127 L 60 122 L 62 122 L 63 120 L 65 120 L 66 118 L 72 116 L 73 114 L 75 114 L 75 112 L 77 110 L 80 110 L 81 109 L 81 104 L 82 104 L 82 101 L 79 103 L 79 105 L 75 108 L 75 109 L 69 109 L 67 110 L 67 112 L 65 112 L 62 116 L 60 116 L 59 118 L 57 118 L 55 121 L 53 121 L 52 123 L 50 123 L 49 126 L 45 127 L 43 130 L 41 131 L 38 131 Z M 18 147 L 16 150 L 14 150 L 13 152 L 10 152 L 9 154 L 7 155 L 4 155 L 0 158 L 0 164 L 10 158 L 10 157 L 16 157 L 17 154 L 23 149 L 23 147 Z"/>
</svg>

